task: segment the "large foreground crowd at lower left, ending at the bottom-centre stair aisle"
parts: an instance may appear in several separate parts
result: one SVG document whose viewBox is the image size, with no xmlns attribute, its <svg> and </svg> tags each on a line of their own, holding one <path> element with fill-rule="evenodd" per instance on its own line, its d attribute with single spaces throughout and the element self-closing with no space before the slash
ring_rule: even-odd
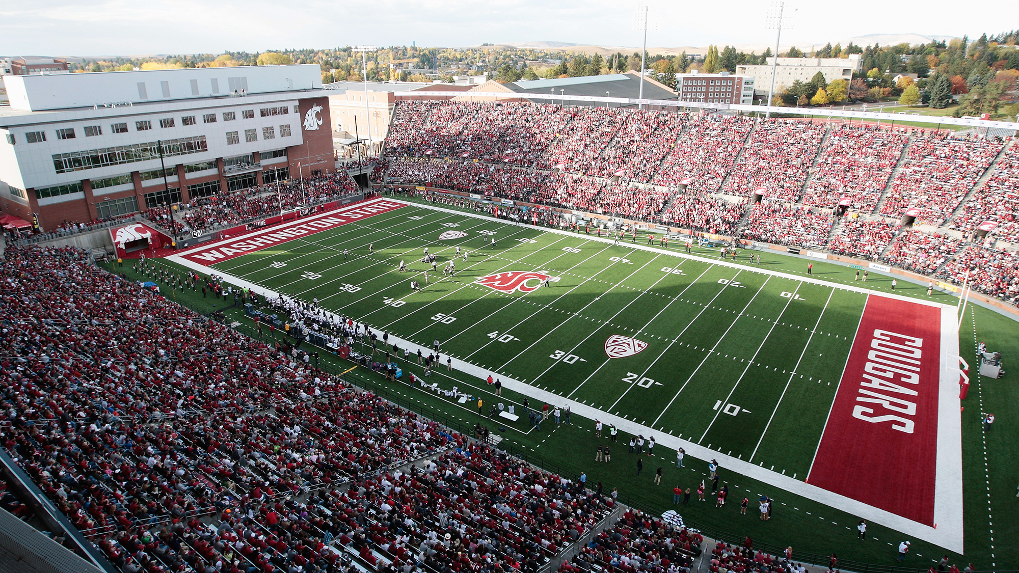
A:
<svg viewBox="0 0 1019 573">
<path fill-rule="evenodd" d="M 5 257 L 0 439 L 124 571 L 534 572 L 610 511 L 83 251 Z"/>
</svg>

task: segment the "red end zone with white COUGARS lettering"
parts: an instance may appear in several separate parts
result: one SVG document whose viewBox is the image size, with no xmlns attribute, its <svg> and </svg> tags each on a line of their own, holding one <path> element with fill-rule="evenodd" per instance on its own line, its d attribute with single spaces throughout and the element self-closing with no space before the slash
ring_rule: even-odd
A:
<svg viewBox="0 0 1019 573">
<path fill-rule="evenodd" d="M 941 309 L 870 295 L 807 481 L 932 526 Z"/>
</svg>

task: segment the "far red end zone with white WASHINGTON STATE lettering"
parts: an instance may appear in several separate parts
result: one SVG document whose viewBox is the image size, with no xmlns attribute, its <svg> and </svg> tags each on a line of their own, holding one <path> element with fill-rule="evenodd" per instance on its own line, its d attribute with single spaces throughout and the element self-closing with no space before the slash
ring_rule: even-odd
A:
<svg viewBox="0 0 1019 573">
<path fill-rule="evenodd" d="M 299 219 L 290 223 L 276 225 L 258 232 L 238 237 L 232 241 L 220 241 L 212 245 L 198 247 L 180 253 L 180 256 L 200 265 L 213 265 L 239 257 L 240 255 L 260 251 L 272 245 L 329 230 L 351 221 L 386 213 L 404 206 L 401 203 L 384 200 L 351 205 L 331 213 L 324 213 L 314 217 Z"/>
</svg>

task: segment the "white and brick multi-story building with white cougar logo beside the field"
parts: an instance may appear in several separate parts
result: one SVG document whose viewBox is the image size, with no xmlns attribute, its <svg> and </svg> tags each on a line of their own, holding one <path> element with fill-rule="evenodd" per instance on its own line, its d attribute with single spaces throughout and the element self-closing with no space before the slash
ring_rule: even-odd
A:
<svg viewBox="0 0 1019 573">
<path fill-rule="evenodd" d="M 44 228 L 334 168 L 318 65 L 3 80 L 0 209 Z"/>
</svg>

